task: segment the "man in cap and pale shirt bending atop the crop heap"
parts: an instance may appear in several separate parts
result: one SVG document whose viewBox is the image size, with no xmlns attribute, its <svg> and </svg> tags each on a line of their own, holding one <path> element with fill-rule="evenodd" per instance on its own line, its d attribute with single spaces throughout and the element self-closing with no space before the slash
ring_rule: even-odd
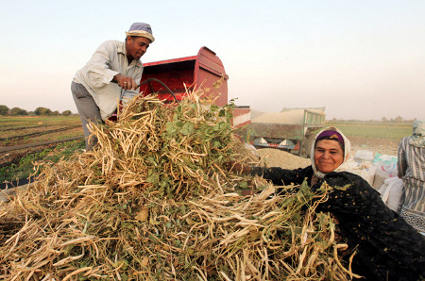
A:
<svg viewBox="0 0 425 281">
<path fill-rule="evenodd" d="M 140 58 L 154 40 L 149 24 L 133 23 L 126 32 L 125 42 L 105 41 L 75 74 L 71 91 L 87 150 L 97 142 L 94 136 L 90 137 L 88 121 L 103 122 L 115 112 L 120 99 L 137 95 L 137 82 L 143 72 Z"/>
</svg>

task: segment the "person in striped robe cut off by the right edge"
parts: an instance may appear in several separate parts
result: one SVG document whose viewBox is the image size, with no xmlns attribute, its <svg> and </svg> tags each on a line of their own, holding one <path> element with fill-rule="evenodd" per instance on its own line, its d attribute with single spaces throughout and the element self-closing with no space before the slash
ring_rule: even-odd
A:
<svg viewBox="0 0 425 281">
<path fill-rule="evenodd" d="M 398 147 L 398 177 L 403 179 L 400 215 L 425 235 L 425 123 L 413 122 L 413 134 Z"/>
</svg>

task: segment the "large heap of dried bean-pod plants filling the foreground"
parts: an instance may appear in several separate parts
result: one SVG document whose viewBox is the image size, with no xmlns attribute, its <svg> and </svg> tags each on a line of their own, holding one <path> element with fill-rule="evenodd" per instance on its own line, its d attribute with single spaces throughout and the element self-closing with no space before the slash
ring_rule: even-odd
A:
<svg viewBox="0 0 425 281">
<path fill-rule="evenodd" d="M 231 109 L 146 97 L 93 126 L 94 151 L 41 166 L 1 203 L 0 279 L 350 279 L 332 219 L 314 212 L 326 190 L 273 195 L 228 164 L 252 161 Z"/>
</svg>

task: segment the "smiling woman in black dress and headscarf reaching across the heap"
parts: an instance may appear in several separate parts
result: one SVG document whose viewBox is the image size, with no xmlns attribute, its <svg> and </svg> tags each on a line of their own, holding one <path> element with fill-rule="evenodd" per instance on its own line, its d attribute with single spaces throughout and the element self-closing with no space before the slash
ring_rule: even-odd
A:
<svg viewBox="0 0 425 281">
<path fill-rule="evenodd" d="M 336 218 L 342 239 L 357 252 L 353 272 L 367 280 L 420 280 L 425 277 L 424 237 L 386 207 L 364 179 L 338 171 L 349 149 L 348 139 L 329 127 L 315 138 L 311 166 L 297 170 L 255 167 L 251 173 L 275 185 L 307 180 L 312 190 L 328 183 L 333 188 L 317 211 L 330 212 Z"/>
</svg>

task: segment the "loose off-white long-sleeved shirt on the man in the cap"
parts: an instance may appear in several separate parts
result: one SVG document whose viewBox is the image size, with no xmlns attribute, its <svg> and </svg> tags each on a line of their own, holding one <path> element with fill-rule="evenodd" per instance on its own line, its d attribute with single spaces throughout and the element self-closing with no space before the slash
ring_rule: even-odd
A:
<svg viewBox="0 0 425 281">
<path fill-rule="evenodd" d="M 110 40 L 103 42 L 74 76 L 73 81 L 82 84 L 92 95 L 103 120 L 115 111 L 122 95 L 134 96 L 138 93 L 130 90 L 124 92 L 117 83 L 112 83 L 114 76 L 119 73 L 139 83 L 143 65 L 140 60 L 128 64 L 125 43 Z"/>
</svg>

